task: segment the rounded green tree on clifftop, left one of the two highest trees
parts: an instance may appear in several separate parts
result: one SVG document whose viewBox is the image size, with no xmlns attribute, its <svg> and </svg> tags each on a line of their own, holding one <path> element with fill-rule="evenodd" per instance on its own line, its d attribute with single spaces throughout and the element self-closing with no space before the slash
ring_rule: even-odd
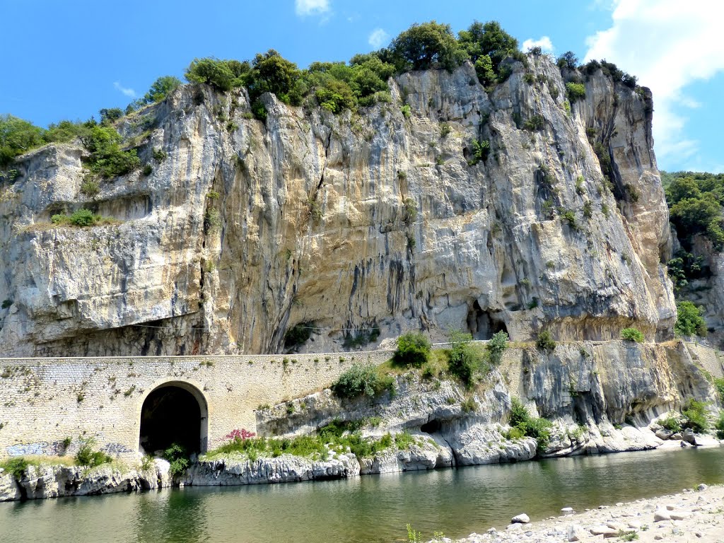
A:
<svg viewBox="0 0 724 543">
<path fill-rule="evenodd" d="M 453 70 L 467 58 L 450 25 L 435 21 L 412 25 L 390 44 L 400 72 L 442 67 Z"/>
</svg>

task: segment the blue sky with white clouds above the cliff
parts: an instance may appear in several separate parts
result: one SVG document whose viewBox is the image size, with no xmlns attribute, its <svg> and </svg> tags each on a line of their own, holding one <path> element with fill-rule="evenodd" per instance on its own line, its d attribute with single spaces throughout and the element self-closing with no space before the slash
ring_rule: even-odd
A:
<svg viewBox="0 0 724 543">
<path fill-rule="evenodd" d="M 654 91 L 662 169 L 724 171 L 720 0 L 0 0 L 0 113 L 48 125 L 124 107 L 194 57 L 274 48 L 305 67 L 376 49 L 413 22 L 498 20 L 523 43 L 605 57 Z M 691 7 L 696 6 L 696 7 Z M 374 43 L 374 46 L 372 45 Z M 691 51 L 696 51 L 692 54 Z"/>
</svg>

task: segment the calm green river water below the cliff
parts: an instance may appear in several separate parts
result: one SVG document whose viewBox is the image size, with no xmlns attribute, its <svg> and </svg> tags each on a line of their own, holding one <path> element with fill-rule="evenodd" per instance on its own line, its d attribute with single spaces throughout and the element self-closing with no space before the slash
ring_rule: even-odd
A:
<svg viewBox="0 0 724 543">
<path fill-rule="evenodd" d="M 0 504 L 2 543 L 368 543 L 407 541 L 405 524 L 460 537 L 576 510 L 724 483 L 724 447 L 255 487 Z"/>
</svg>

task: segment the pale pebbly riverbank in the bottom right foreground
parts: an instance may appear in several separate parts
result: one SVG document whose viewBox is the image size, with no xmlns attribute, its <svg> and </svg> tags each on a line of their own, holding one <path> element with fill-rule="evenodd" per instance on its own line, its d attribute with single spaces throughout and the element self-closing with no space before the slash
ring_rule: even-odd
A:
<svg viewBox="0 0 724 543">
<path fill-rule="evenodd" d="M 565 508 L 558 517 L 524 522 L 527 515 L 516 515 L 516 522 L 505 530 L 489 529 L 484 534 L 470 534 L 456 543 L 554 543 L 612 541 L 640 542 L 724 542 L 724 485 L 679 494 L 636 500 L 577 513 Z M 451 543 L 452 539 L 434 539 Z"/>
</svg>

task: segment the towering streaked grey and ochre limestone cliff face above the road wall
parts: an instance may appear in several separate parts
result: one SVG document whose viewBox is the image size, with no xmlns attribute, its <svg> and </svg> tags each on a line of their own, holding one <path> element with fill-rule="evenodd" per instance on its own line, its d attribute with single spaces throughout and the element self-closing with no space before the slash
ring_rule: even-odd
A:
<svg viewBox="0 0 724 543">
<path fill-rule="evenodd" d="M 22 157 L 0 187 L 4 354 L 277 352 L 296 324 L 313 328 L 309 351 L 359 340 L 349 329 L 668 336 L 650 96 L 597 72 L 569 108 L 558 68 L 529 63 L 535 83 L 516 62 L 490 94 L 471 64 L 411 72 L 391 104 L 337 117 L 266 95 L 266 122 L 244 91 L 185 85 L 119 126 L 150 130 L 138 151 L 153 171 L 93 198 L 80 147 Z M 81 207 L 118 222 L 50 226 Z"/>
</svg>

